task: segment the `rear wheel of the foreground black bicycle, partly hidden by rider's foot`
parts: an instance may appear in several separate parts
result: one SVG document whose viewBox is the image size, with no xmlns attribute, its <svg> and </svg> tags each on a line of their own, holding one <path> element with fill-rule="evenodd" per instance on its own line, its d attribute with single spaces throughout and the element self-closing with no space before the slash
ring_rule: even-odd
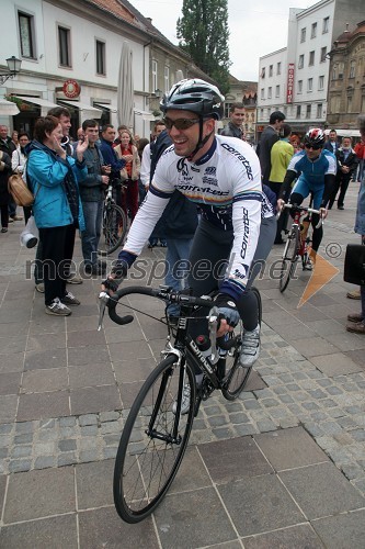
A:
<svg viewBox="0 0 365 549">
<path fill-rule="evenodd" d="M 262 302 L 261 302 L 261 295 L 260 292 L 256 288 L 252 288 L 251 291 L 253 292 L 256 301 L 258 301 L 258 310 L 259 310 L 259 324 L 261 326 L 261 321 L 262 321 Z M 236 326 L 233 330 L 233 337 L 237 336 L 237 333 L 239 334 L 239 340 L 242 341 L 243 337 L 243 324 L 242 321 L 240 320 L 239 324 Z M 228 401 L 233 401 L 236 400 L 244 389 L 244 385 L 247 384 L 250 373 L 252 371 L 252 367 L 244 367 L 241 366 L 240 363 L 240 352 L 241 352 L 241 345 L 239 344 L 238 346 L 233 347 L 231 351 L 228 351 L 227 358 L 226 358 L 226 383 L 221 388 L 221 394 L 224 395 L 225 399 Z"/>
</svg>

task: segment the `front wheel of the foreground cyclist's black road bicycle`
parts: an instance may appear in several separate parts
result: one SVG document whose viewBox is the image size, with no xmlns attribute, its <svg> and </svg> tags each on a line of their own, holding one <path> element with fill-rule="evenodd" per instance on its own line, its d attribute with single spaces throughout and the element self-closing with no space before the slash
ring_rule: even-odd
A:
<svg viewBox="0 0 365 549">
<path fill-rule="evenodd" d="M 135 524 L 146 518 L 166 495 L 184 456 L 194 421 L 195 376 L 186 362 L 179 367 L 174 355 L 168 356 L 141 386 L 122 433 L 114 468 L 114 504 L 123 520 Z M 179 392 L 180 377 L 191 386 L 190 410 L 179 418 L 172 404 Z M 181 378 L 182 379 L 182 378 Z M 155 429 L 169 436 L 179 421 L 180 444 L 151 437 L 147 430 L 152 414 Z"/>
</svg>

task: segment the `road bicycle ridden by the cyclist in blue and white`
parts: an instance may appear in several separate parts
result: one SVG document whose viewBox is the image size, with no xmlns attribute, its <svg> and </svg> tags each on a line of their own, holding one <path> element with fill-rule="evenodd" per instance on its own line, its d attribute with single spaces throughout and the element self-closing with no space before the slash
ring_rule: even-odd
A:
<svg viewBox="0 0 365 549">
<path fill-rule="evenodd" d="M 313 213 L 319 215 L 319 223 L 316 228 L 319 228 L 323 223 L 322 214 L 319 210 L 312 208 L 298 206 L 296 204 L 284 204 L 284 208 L 293 211 L 293 224 L 287 235 L 283 253 L 283 261 L 280 274 L 280 291 L 283 293 L 290 279 L 294 276 L 298 259 L 301 259 L 303 270 L 311 270 L 312 265 L 309 258 L 308 249 L 311 244 L 310 236 L 310 220 Z"/>
</svg>

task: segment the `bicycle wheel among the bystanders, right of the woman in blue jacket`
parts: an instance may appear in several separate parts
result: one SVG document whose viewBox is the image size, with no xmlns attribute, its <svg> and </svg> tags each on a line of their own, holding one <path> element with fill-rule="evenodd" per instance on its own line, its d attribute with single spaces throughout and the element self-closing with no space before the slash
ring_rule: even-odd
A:
<svg viewBox="0 0 365 549">
<path fill-rule="evenodd" d="M 113 254 L 124 242 L 127 216 L 121 206 L 112 202 L 104 205 L 102 220 L 99 251 L 103 255 Z"/>
</svg>

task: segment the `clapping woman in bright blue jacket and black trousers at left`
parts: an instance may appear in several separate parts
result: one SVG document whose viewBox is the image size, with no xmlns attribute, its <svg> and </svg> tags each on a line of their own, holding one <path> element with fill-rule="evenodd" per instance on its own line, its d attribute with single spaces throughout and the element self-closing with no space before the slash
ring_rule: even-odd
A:
<svg viewBox="0 0 365 549">
<path fill-rule="evenodd" d="M 68 316 L 67 305 L 80 302 L 66 291 L 65 250 L 70 228 L 84 228 L 78 180 L 87 175 L 83 153 L 88 139 L 79 142 L 77 158 L 61 147 L 62 130 L 55 116 L 35 123 L 34 141 L 27 147 L 26 180 L 35 200 L 33 215 L 43 246 L 43 276 L 46 313 Z"/>
</svg>

